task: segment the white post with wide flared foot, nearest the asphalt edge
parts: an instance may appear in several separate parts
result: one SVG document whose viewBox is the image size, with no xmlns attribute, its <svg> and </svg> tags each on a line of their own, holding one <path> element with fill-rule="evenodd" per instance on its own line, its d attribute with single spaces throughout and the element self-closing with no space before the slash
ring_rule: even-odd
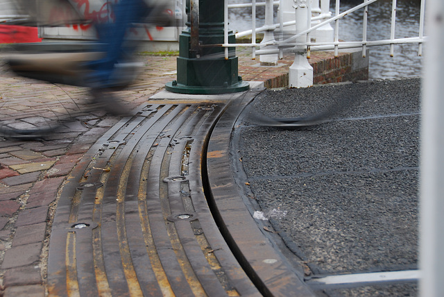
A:
<svg viewBox="0 0 444 297">
<path fill-rule="evenodd" d="M 308 29 L 311 12 L 307 0 L 293 0 L 296 10 L 296 33 Z M 307 42 L 307 35 L 296 38 L 296 43 Z M 313 85 L 313 67 L 307 61 L 307 46 L 295 46 L 293 65 L 289 69 L 289 87 L 309 87 Z"/>
</svg>

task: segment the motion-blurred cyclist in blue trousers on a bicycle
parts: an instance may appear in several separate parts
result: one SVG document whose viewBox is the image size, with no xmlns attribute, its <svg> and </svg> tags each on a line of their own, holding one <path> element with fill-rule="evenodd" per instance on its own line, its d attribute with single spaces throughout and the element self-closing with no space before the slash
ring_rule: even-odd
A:
<svg viewBox="0 0 444 297">
<path fill-rule="evenodd" d="M 15 74 L 26 78 L 51 84 L 88 87 L 90 100 L 86 105 L 89 110 L 96 108 L 105 110 L 108 114 L 129 115 L 130 110 L 114 95 L 116 88 L 130 85 L 137 74 L 138 64 L 134 60 L 134 53 L 138 44 L 134 40 L 128 40 L 128 31 L 133 26 L 138 26 L 137 24 L 176 26 L 174 16 L 168 9 L 171 3 L 160 0 L 94 1 L 103 2 L 102 7 L 106 6 L 108 17 L 104 18 L 99 13 L 85 13 L 87 10 L 81 8 L 84 4 L 89 5 L 89 1 L 8 1 L 16 8 L 17 17 L 5 24 L 81 24 L 94 27 L 97 38 L 92 42 L 14 44 L 8 46 L 6 64 Z M 59 15 L 51 10 L 54 6 L 59 8 L 56 10 L 60 11 Z M 5 102 L 0 104 L 0 113 L 1 108 L 6 105 L 8 104 Z M 58 110 L 52 116 L 37 116 L 36 122 L 28 126 L 3 118 L 0 122 L 0 136 L 15 139 L 42 138 L 85 112 L 85 108 L 77 103 L 75 105 L 77 110 L 74 111 Z"/>
</svg>

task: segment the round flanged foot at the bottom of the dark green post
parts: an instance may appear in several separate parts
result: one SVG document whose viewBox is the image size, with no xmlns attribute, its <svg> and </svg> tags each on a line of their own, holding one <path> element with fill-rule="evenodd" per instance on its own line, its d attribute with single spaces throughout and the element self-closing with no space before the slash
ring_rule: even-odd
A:
<svg viewBox="0 0 444 297">
<path fill-rule="evenodd" d="M 173 80 L 165 85 L 165 90 L 180 94 L 228 94 L 244 92 L 249 89 L 250 84 L 246 81 L 240 81 L 239 83 L 234 83 L 234 85 L 199 87 L 195 85 L 182 85 Z"/>
</svg>

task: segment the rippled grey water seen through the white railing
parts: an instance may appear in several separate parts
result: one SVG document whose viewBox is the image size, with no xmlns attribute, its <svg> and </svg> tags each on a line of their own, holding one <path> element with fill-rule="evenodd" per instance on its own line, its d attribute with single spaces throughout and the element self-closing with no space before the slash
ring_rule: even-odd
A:
<svg viewBox="0 0 444 297">
<path fill-rule="evenodd" d="M 244 3 L 245 0 L 232 0 L 230 3 Z M 334 15 L 335 1 L 330 1 L 330 12 Z M 340 12 L 344 12 L 362 1 L 341 1 Z M 367 40 L 385 40 L 390 38 L 392 1 L 379 0 L 368 6 Z M 361 41 L 364 10 L 357 10 L 339 21 L 339 40 Z M 278 22 L 278 10 L 275 8 L 275 22 Z M 234 32 L 251 28 L 251 9 L 236 8 L 229 12 L 230 26 Z M 417 37 L 419 35 L 420 1 L 398 0 L 396 9 L 395 38 Z M 264 24 L 264 7 L 257 8 L 257 27 Z M 425 45 L 423 45 L 425 49 Z M 394 56 L 390 56 L 389 46 L 369 48 L 369 77 L 406 78 L 422 74 L 423 55 L 418 56 L 418 44 L 395 45 Z"/>
</svg>

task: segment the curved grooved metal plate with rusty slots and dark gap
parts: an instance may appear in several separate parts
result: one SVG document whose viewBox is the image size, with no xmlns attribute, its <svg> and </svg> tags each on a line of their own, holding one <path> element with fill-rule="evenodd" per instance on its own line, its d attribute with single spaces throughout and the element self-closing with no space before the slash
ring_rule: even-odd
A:
<svg viewBox="0 0 444 297">
<path fill-rule="evenodd" d="M 152 101 L 103 135 L 60 195 L 49 295 L 306 296 L 217 153 L 251 99 Z"/>
</svg>

